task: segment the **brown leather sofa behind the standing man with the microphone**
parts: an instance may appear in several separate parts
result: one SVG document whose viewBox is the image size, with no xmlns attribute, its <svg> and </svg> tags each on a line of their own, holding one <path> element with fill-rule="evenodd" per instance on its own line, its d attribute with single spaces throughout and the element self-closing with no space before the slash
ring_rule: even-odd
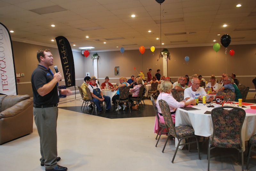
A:
<svg viewBox="0 0 256 171">
<path fill-rule="evenodd" d="M 33 98 L 0 95 L 0 145 L 33 132 Z"/>
</svg>

